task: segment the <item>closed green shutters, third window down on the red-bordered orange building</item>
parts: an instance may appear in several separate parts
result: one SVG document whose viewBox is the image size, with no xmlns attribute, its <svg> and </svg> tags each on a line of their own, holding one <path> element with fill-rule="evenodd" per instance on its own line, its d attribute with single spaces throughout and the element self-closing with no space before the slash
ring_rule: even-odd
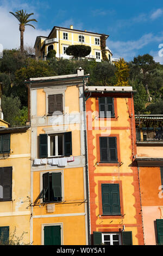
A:
<svg viewBox="0 0 163 256">
<path fill-rule="evenodd" d="M 121 215 L 119 184 L 102 184 L 103 215 Z"/>
</svg>

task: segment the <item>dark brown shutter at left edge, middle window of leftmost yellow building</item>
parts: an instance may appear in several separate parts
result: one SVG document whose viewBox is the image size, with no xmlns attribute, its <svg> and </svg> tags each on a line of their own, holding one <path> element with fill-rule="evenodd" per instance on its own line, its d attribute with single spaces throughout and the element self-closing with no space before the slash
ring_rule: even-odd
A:
<svg viewBox="0 0 163 256">
<path fill-rule="evenodd" d="M 12 200 L 12 167 L 0 168 L 0 201 Z"/>
</svg>

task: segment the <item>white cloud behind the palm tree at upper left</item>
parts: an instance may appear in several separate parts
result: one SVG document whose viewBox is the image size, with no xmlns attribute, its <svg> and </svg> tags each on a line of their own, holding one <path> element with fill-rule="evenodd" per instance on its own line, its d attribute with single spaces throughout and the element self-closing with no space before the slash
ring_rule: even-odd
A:
<svg viewBox="0 0 163 256">
<path fill-rule="evenodd" d="M 20 3 L 20 5 L 17 5 L 19 9 L 26 9 L 27 13 L 34 12 L 33 17 L 36 19 L 39 17 L 39 14 L 36 13 L 34 7 L 29 6 L 27 3 L 21 4 L 20 1 L 10 1 L 9 5 L 7 1 L 2 1 L 2 4 L 0 5 L 0 44 L 3 45 L 4 49 L 20 47 L 20 31 L 18 20 L 9 13 L 9 11 L 12 11 L 13 13 L 15 12 L 16 3 Z M 32 24 L 36 29 L 30 26 L 26 26 L 24 32 L 24 44 L 34 46 L 36 36 L 47 36 L 51 30 L 47 29 L 46 31 L 43 31 L 42 29 L 37 28 L 38 25 L 36 22 L 32 22 Z"/>
</svg>

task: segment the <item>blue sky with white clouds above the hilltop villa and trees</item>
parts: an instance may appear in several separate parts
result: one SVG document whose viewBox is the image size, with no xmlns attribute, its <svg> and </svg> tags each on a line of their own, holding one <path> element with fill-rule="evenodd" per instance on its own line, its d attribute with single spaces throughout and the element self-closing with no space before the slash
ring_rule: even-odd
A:
<svg viewBox="0 0 163 256">
<path fill-rule="evenodd" d="M 53 26 L 70 27 L 109 34 L 106 44 L 113 57 L 127 61 L 149 53 L 163 64 L 159 45 L 163 44 L 163 2 L 161 0 L 115 1 L 32 1 L 0 0 L 0 44 L 15 48 L 20 44 L 18 22 L 9 11 L 26 9 L 34 13 L 36 29 L 27 27 L 24 43 L 34 45 L 37 35 L 47 36 Z"/>
</svg>

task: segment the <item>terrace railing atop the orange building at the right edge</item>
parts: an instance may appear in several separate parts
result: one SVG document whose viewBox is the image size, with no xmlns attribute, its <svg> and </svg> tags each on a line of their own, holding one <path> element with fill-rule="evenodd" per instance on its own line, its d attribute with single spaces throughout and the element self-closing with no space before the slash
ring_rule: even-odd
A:
<svg viewBox="0 0 163 256">
<path fill-rule="evenodd" d="M 163 142 L 163 127 L 136 128 L 136 141 Z"/>
</svg>

